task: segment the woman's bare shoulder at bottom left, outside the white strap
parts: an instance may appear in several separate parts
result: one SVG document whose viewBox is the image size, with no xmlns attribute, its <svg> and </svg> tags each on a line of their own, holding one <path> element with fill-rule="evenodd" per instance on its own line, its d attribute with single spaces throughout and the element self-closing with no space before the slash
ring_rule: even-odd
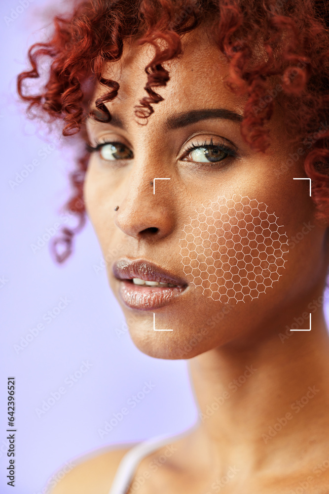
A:
<svg viewBox="0 0 329 494">
<path fill-rule="evenodd" d="M 108 494 L 121 459 L 133 446 L 120 445 L 69 462 L 48 481 L 47 493 Z"/>
</svg>

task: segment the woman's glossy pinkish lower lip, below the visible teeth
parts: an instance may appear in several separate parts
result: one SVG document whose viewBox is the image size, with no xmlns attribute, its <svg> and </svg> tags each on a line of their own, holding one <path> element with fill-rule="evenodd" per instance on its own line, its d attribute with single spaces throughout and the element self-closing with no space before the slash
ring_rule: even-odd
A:
<svg viewBox="0 0 329 494">
<path fill-rule="evenodd" d="M 146 287 L 120 280 L 119 294 L 132 309 L 153 310 L 168 305 L 184 291 L 184 287 Z"/>
</svg>

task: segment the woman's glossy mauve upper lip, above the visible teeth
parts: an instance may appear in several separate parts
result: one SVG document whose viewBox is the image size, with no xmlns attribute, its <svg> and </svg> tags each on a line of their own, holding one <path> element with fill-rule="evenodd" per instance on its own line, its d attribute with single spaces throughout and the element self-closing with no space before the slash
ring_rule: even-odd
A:
<svg viewBox="0 0 329 494">
<path fill-rule="evenodd" d="M 112 270 L 115 278 L 119 280 L 140 278 L 145 281 L 170 283 L 181 287 L 187 286 L 186 281 L 182 278 L 178 278 L 168 273 L 165 269 L 144 259 L 120 259 L 113 263 Z"/>
</svg>

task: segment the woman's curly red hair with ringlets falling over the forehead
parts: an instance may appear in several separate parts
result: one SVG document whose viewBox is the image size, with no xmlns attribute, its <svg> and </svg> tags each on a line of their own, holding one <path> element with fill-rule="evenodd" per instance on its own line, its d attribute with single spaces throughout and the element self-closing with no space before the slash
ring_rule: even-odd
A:
<svg viewBox="0 0 329 494">
<path fill-rule="evenodd" d="M 82 135 L 84 121 L 90 116 L 88 99 L 97 80 L 107 91 L 96 101 L 97 111 L 92 117 L 110 120 L 106 103 L 117 96 L 120 86 L 103 78 L 105 65 L 119 60 L 123 42 L 134 39 L 155 48 L 145 68 L 147 96 L 135 107 L 136 116 L 147 123 L 154 112 L 152 104 L 163 100 L 154 88 L 170 81 L 162 64 L 182 53 L 184 33 L 204 23 L 229 63 L 230 77 L 225 84 L 237 94 L 248 95 L 241 123 L 244 140 L 253 149 L 265 152 L 270 138 L 264 124 L 280 102 L 287 135 L 292 143 L 302 142 L 308 149 L 303 165 L 312 179 L 317 218 L 328 221 L 328 19 L 325 0 L 75 1 L 68 14 L 55 16 L 51 39 L 30 48 L 32 68 L 18 76 L 18 93 L 29 103 L 30 116 L 41 113 L 43 119 L 61 119 L 63 135 Z M 259 46 L 263 47 L 261 56 Z M 51 61 L 48 80 L 37 94 L 30 94 L 25 82 L 39 78 L 44 57 Z M 73 236 L 85 220 L 83 181 L 87 163 L 88 154 L 84 153 L 71 174 L 73 197 L 67 209 L 78 216 L 79 224 L 75 229 L 63 229 L 62 237 L 56 240 L 59 262 L 70 255 Z"/>
</svg>

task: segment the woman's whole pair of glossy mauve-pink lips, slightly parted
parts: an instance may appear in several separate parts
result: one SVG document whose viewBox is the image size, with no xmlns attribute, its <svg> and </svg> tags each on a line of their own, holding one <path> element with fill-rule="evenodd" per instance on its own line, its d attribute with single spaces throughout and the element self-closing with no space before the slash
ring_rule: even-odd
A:
<svg viewBox="0 0 329 494">
<path fill-rule="evenodd" d="M 179 296 L 187 287 L 187 282 L 152 262 L 144 259 L 120 259 L 113 263 L 114 277 L 120 282 L 119 294 L 122 301 L 130 308 L 154 310 L 164 307 L 173 298 Z M 133 278 L 145 281 L 170 283 L 175 287 L 146 287 L 134 285 Z"/>
</svg>

